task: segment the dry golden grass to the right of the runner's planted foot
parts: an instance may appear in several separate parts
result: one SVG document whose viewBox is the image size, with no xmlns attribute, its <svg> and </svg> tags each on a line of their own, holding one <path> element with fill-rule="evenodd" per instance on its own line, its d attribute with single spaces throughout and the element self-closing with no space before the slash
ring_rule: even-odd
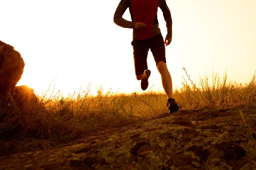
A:
<svg viewBox="0 0 256 170">
<path fill-rule="evenodd" d="M 183 87 L 175 91 L 175 99 L 182 109 L 218 109 L 230 107 L 256 106 L 256 74 L 248 84 L 242 85 L 228 81 L 213 73 L 212 77 L 200 77 L 196 85 L 185 68 L 187 79 L 183 77 Z"/>
</svg>

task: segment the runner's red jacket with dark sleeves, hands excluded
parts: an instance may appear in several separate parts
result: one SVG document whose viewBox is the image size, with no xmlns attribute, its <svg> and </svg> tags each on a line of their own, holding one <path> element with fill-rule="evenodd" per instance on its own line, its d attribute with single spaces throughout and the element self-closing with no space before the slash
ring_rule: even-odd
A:
<svg viewBox="0 0 256 170">
<path fill-rule="evenodd" d="M 134 28 L 136 22 L 144 23 L 145 28 L 134 29 L 133 38 L 139 40 L 151 38 L 161 33 L 157 20 L 158 7 L 163 11 L 167 37 L 172 38 L 172 17 L 166 0 L 121 0 L 114 14 L 114 23 L 124 28 Z M 127 8 L 129 8 L 132 21 L 122 18 Z"/>
</svg>

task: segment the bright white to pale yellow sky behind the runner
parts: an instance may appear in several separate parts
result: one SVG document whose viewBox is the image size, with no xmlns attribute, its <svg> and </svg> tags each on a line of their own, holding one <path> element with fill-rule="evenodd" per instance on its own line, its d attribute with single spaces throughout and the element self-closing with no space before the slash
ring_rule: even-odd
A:
<svg viewBox="0 0 256 170">
<path fill-rule="evenodd" d="M 0 0 L 0 40 L 25 61 L 18 85 L 41 94 L 52 79 L 55 89 L 72 93 L 89 82 L 106 90 L 142 91 L 135 77 L 132 30 L 113 23 L 120 0 Z M 236 82 L 256 71 L 256 0 L 167 0 L 173 38 L 166 59 L 173 85 L 181 87 L 183 67 L 199 75 L 218 71 Z M 125 19 L 131 20 L 128 10 Z M 163 37 L 162 11 L 158 19 Z M 162 90 L 151 53 L 149 87 Z"/>
</svg>

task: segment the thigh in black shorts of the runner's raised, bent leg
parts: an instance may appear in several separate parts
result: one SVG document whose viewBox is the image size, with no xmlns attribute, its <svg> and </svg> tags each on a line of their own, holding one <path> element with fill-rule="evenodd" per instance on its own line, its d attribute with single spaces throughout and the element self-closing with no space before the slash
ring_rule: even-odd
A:
<svg viewBox="0 0 256 170">
<path fill-rule="evenodd" d="M 135 67 L 135 74 L 140 75 L 148 69 L 147 64 L 147 57 L 148 57 L 148 45 L 143 40 L 136 40 L 134 39 L 131 42 L 133 45 L 134 51 L 134 67 Z"/>
</svg>

